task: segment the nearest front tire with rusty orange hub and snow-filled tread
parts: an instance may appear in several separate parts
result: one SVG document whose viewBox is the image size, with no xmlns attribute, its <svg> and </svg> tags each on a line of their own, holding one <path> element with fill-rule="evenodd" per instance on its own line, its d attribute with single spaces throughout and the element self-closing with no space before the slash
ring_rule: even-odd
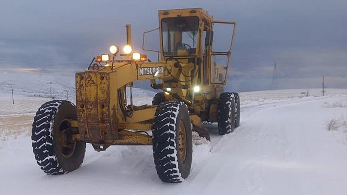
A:
<svg viewBox="0 0 347 195">
<path fill-rule="evenodd" d="M 152 125 L 155 169 L 164 182 L 187 178 L 192 165 L 192 126 L 187 106 L 179 101 L 159 105 Z"/>
</svg>

